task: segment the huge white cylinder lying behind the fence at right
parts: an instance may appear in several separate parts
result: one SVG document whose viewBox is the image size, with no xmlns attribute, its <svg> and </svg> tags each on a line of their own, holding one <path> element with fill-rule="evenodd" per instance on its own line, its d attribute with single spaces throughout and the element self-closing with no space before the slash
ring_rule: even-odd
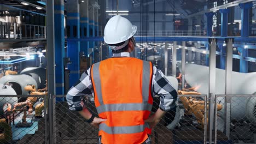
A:
<svg viewBox="0 0 256 144">
<path fill-rule="evenodd" d="M 200 73 L 195 73 L 200 71 Z M 190 86 L 197 86 L 197 91 L 202 94 L 208 93 L 209 68 L 196 65 L 185 65 L 185 80 Z M 256 73 L 232 72 L 232 94 L 254 94 L 256 92 Z M 216 69 L 216 94 L 224 94 L 225 91 L 225 70 Z M 218 97 L 220 104 L 224 104 L 224 98 Z M 256 123 L 256 98 L 253 97 L 232 97 L 231 118 L 248 119 Z M 220 116 L 224 110 L 219 111 Z M 223 116 L 224 117 L 224 116 Z"/>
</svg>

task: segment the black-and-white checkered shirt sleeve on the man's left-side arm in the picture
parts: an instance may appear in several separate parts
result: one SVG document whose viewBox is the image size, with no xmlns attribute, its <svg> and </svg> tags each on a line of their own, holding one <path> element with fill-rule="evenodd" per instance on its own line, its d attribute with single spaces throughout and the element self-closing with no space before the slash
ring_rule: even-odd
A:
<svg viewBox="0 0 256 144">
<path fill-rule="evenodd" d="M 67 103 L 69 106 L 69 110 L 72 111 L 82 111 L 83 105 L 82 105 L 82 97 L 85 95 L 91 95 L 92 94 L 92 85 L 90 80 L 90 69 L 87 71 L 84 71 L 80 79 L 73 85 L 67 95 Z"/>
</svg>

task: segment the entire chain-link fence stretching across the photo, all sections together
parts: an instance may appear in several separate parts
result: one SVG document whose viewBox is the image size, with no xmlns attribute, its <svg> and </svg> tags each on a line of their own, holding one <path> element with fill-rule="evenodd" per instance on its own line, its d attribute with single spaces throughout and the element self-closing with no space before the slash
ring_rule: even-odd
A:
<svg viewBox="0 0 256 144">
<path fill-rule="evenodd" d="M 98 130 L 68 109 L 65 95 L 55 95 L 53 100 L 51 109 L 44 95 L 1 95 L 0 143 L 48 143 L 49 137 L 54 137 L 54 143 L 97 143 Z M 84 101 L 97 115 L 94 98 L 84 97 Z M 211 124 L 214 143 L 255 143 L 256 95 L 216 95 L 215 102 L 216 117 L 210 123 L 207 95 L 179 95 L 176 107 L 153 129 L 152 143 L 207 143 Z M 154 98 L 152 113 L 159 103 Z M 53 121 L 44 111 L 53 111 Z M 49 123 L 54 123 L 53 135 L 47 131 Z"/>
</svg>

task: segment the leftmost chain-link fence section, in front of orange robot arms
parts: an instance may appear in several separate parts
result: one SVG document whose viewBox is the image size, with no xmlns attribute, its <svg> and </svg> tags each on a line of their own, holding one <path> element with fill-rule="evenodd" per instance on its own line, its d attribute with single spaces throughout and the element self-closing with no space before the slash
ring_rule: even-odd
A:
<svg viewBox="0 0 256 144">
<path fill-rule="evenodd" d="M 0 143 L 45 143 L 44 95 L 0 95 Z"/>
</svg>

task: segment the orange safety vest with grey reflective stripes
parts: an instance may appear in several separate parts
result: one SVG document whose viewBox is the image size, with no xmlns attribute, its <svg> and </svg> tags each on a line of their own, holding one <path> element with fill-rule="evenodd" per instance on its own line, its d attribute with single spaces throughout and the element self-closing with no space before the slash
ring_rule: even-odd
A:
<svg viewBox="0 0 256 144">
<path fill-rule="evenodd" d="M 114 57 L 91 67 L 101 143 L 143 143 L 151 134 L 145 123 L 152 110 L 153 65 L 132 57 Z"/>
</svg>

